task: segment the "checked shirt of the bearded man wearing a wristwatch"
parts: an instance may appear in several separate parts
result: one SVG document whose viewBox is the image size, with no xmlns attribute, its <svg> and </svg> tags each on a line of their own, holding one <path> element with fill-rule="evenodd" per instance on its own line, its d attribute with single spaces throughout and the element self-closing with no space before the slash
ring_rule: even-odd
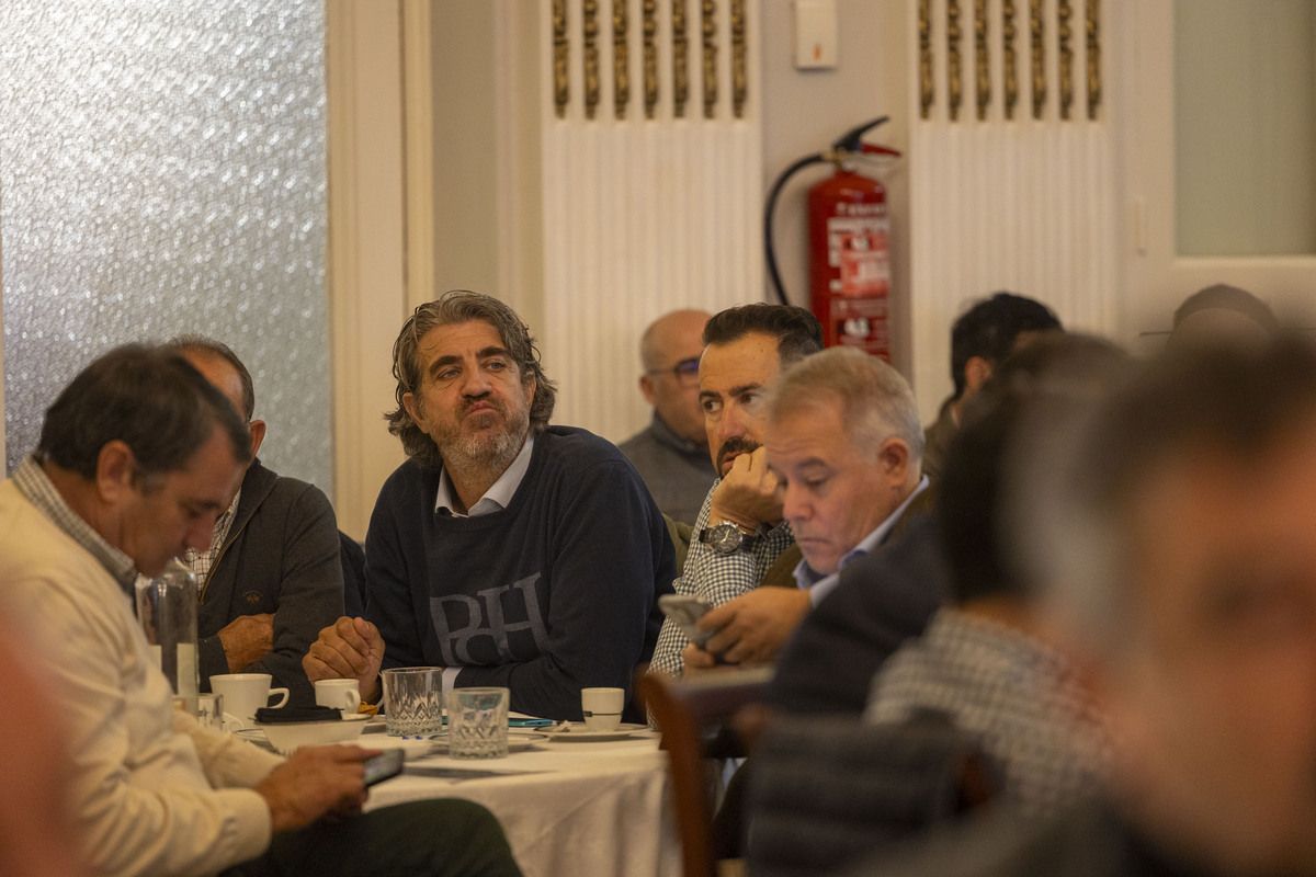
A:
<svg viewBox="0 0 1316 877">
<path fill-rule="evenodd" d="M 690 542 L 690 552 L 686 555 L 686 568 L 672 584 L 678 594 L 694 594 L 709 606 L 721 606 L 726 601 L 758 588 L 758 582 L 763 581 L 769 568 L 782 556 L 783 551 L 795 543 L 791 525 L 784 521 L 772 527 L 766 538 L 755 542 L 754 547 L 747 551 L 720 555 L 708 543 L 700 542 L 699 534 L 708 527 L 708 510 L 712 508 L 713 490 L 721 483 L 721 479 L 713 481 L 708 496 L 704 497 L 704 505 L 695 519 L 694 538 Z M 680 627 L 670 618 L 663 619 L 649 669 L 669 676 L 680 676 L 684 668 L 680 652 L 688 644 L 690 639 Z"/>
</svg>

